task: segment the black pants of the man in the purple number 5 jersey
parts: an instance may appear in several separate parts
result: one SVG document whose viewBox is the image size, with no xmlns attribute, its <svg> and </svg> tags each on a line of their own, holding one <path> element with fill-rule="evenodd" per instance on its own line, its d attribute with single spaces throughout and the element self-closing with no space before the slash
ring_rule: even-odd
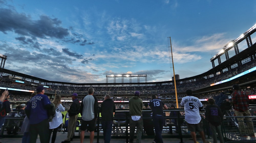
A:
<svg viewBox="0 0 256 143">
<path fill-rule="evenodd" d="M 30 143 L 36 143 L 39 134 L 41 143 L 49 143 L 49 120 L 45 119 L 38 124 L 30 124 Z"/>
</svg>

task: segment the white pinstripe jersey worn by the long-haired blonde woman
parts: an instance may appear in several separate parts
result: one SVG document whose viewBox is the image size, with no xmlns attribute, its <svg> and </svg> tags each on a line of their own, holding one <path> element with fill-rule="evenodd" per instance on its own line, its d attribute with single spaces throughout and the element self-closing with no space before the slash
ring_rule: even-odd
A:
<svg viewBox="0 0 256 143">
<path fill-rule="evenodd" d="M 65 108 L 62 106 L 62 104 L 59 104 L 56 107 L 55 116 L 53 117 L 52 121 L 49 122 L 49 129 L 57 128 L 60 126 L 60 124 L 63 123 L 61 112 L 64 112 L 64 111 L 65 111 Z"/>
</svg>

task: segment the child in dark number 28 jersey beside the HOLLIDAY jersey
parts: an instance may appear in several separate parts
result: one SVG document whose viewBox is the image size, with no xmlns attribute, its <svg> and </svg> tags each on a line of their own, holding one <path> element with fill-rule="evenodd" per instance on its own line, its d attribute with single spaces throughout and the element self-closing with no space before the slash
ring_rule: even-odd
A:
<svg viewBox="0 0 256 143">
<path fill-rule="evenodd" d="M 210 105 L 207 105 L 205 108 L 205 118 L 209 122 L 212 131 L 213 141 L 214 143 L 218 143 L 216 135 L 217 132 L 220 143 L 224 143 L 220 127 L 220 124 L 223 121 L 223 114 L 221 112 L 221 109 L 219 108 L 219 106 L 215 105 L 215 100 L 213 98 L 209 98 L 207 101 Z"/>
</svg>

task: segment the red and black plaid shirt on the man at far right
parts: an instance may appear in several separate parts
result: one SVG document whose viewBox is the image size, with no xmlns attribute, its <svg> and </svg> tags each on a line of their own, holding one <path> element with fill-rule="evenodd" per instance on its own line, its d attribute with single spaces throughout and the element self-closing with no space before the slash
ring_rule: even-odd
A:
<svg viewBox="0 0 256 143">
<path fill-rule="evenodd" d="M 236 90 L 232 94 L 232 102 L 236 111 L 243 112 L 249 110 L 248 95 L 242 91 Z"/>
</svg>

